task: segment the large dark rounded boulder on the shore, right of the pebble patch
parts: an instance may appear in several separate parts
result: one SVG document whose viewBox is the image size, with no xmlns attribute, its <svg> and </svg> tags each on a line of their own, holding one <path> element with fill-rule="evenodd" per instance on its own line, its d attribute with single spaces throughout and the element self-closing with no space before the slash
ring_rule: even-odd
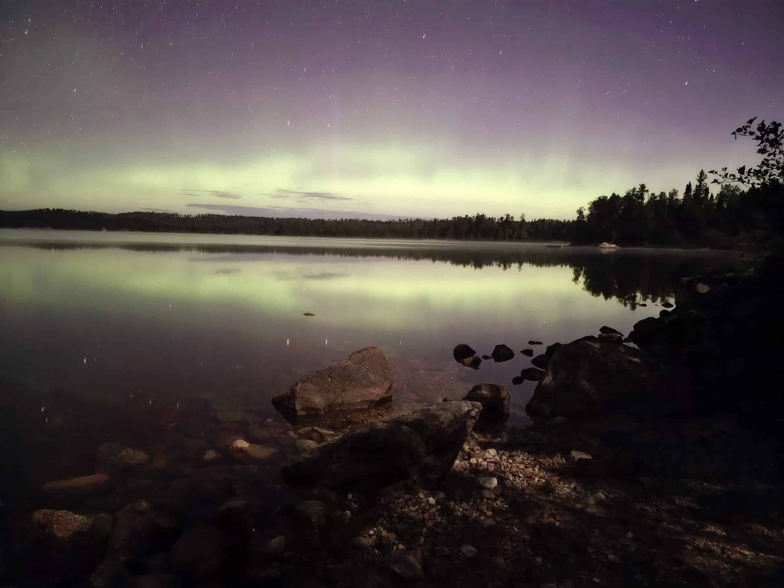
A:
<svg viewBox="0 0 784 588">
<path fill-rule="evenodd" d="M 681 378 L 633 347 L 578 339 L 562 345 L 547 362 L 526 412 L 537 422 L 677 412 L 689 405 Z"/>
</svg>

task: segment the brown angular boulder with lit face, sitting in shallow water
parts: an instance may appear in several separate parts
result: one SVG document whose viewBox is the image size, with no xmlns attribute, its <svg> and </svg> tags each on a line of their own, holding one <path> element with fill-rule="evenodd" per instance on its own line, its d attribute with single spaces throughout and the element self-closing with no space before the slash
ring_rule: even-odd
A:
<svg viewBox="0 0 784 588">
<path fill-rule="evenodd" d="M 303 416 L 391 402 L 392 383 L 392 370 L 382 351 L 365 347 L 343 361 L 310 372 L 288 394 L 274 397 L 272 405 L 294 423 Z"/>
</svg>

